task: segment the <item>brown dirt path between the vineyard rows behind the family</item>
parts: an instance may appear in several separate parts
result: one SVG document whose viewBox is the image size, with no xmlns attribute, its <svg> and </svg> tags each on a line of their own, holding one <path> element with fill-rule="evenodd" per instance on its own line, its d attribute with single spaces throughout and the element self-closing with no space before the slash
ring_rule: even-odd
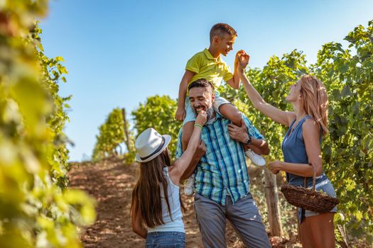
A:
<svg viewBox="0 0 373 248">
<path fill-rule="evenodd" d="M 85 247 L 144 247 L 144 239 L 131 230 L 129 209 L 131 191 L 136 183 L 136 165 L 127 166 L 120 160 L 97 164 L 72 164 L 70 187 L 80 188 L 97 199 L 97 220 L 82 235 Z M 180 188 L 182 190 L 182 188 Z M 193 211 L 193 198 L 183 196 L 187 247 L 202 247 L 202 239 Z M 227 247 L 244 247 L 227 222 Z"/>
</svg>

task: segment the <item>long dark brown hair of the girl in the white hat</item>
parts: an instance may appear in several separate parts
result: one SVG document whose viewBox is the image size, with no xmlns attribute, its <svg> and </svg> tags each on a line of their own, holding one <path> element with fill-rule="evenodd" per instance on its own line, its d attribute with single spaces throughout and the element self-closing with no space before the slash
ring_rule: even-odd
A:
<svg viewBox="0 0 373 248">
<path fill-rule="evenodd" d="M 170 167 L 171 161 L 168 150 L 165 149 L 149 162 L 140 164 L 140 176 L 134 191 L 132 204 L 135 203 L 135 213 L 141 211 L 142 218 L 148 227 L 164 224 L 162 218 L 161 187 L 166 199 L 168 213 L 171 220 L 171 208 L 168 203 L 168 182 L 163 172 L 164 167 Z"/>
</svg>

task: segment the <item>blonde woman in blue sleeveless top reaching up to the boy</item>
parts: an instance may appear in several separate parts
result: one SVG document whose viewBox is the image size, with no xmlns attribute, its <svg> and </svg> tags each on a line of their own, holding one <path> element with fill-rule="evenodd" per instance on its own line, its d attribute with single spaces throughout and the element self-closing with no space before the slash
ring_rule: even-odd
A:
<svg viewBox="0 0 373 248">
<path fill-rule="evenodd" d="M 286 171 L 286 179 L 291 185 L 312 186 L 313 167 L 316 172 L 316 190 L 335 197 L 330 181 L 323 174 L 320 143 L 328 133 L 328 95 L 323 83 L 313 76 L 305 75 L 290 86 L 286 101 L 293 105 L 293 112 L 281 111 L 266 103 L 254 89 L 244 74 L 249 63 L 249 55 L 242 52 L 239 60 L 239 77 L 254 107 L 272 120 L 289 127 L 282 143 L 284 161 L 276 160 L 269 164 L 274 174 Z M 233 137 L 234 138 L 234 137 Z M 313 167 L 310 166 L 313 164 Z M 335 247 L 333 218 L 336 208 L 330 213 L 314 213 L 306 210 L 305 215 L 298 210 L 301 222 L 301 242 L 303 247 Z"/>
</svg>

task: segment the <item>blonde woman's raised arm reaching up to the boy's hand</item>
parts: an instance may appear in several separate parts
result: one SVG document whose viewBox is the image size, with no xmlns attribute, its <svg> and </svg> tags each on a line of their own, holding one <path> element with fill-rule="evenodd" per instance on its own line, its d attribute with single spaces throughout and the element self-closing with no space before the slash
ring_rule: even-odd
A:
<svg viewBox="0 0 373 248">
<path fill-rule="evenodd" d="M 249 55 L 244 54 L 240 56 L 239 63 L 238 63 L 238 71 L 239 77 L 244 85 L 244 89 L 249 96 L 250 101 L 254 105 L 254 108 L 267 115 L 272 120 L 276 121 L 276 123 L 280 123 L 286 126 L 290 126 L 291 122 L 296 119 L 296 113 L 289 112 L 289 111 L 281 111 L 279 108 L 271 106 L 271 104 L 266 103 L 261 95 L 256 91 L 254 86 L 250 83 L 249 79 L 247 79 L 246 75 L 244 74 L 244 68 L 249 63 Z"/>
</svg>

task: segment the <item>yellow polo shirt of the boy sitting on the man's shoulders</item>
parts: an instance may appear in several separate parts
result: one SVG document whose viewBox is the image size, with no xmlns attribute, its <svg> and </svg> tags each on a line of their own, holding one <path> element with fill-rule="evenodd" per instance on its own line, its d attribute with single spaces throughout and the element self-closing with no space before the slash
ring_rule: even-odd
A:
<svg viewBox="0 0 373 248">
<path fill-rule="evenodd" d="M 222 61 L 220 55 L 215 59 L 207 48 L 191 57 L 185 69 L 195 72 L 188 85 L 195 80 L 206 79 L 207 81 L 211 81 L 216 89 L 222 84 L 222 80 L 228 81 L 233 78 L 229 66 Z"/>
</svg>

